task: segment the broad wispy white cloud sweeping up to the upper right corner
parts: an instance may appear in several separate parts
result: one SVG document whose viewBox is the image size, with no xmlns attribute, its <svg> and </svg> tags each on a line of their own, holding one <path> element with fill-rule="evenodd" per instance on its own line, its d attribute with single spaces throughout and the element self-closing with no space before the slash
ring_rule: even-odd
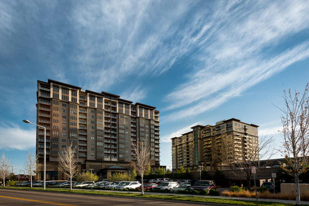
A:
<svg viewBox="0 0 309 206">
<path fill-rule="evenodd" d="M 285 50 L 277 49 L 288 41 L 287 36 L 309 27 L 306 2 L 269 5 L 259 1 L 237 10 L 227 12 L 228 15 L 214 14 L 219 26 L 210 23 L 210 29 L 216 32 L 207 37 L 211 41 L 201 45 L 193 58 L 197 66 L 187 74 L 187 81 L 165 97 L 170 106 L 164 110 L 190 106 L 168 115 L 167 121 L 175 115 L 184 117 L 192 111 L 199 114 L 213 109 L 231 96 L 241 95 L 256 83 L 309 57 L 308 41 Z M 224 26 L 219 19 L 224 19 Z"/>
</svg>

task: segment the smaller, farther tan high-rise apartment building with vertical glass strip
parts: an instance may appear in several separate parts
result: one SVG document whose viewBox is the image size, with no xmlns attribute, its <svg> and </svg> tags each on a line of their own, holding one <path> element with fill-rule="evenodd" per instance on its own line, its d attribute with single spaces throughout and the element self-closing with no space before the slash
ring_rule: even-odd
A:
<svg viewBox="0 0 309 206">
<path fill-rule="evenodd" d="M 212 125 L 196 125 L 191 132 L 173 137 L 172 167 L 177 170 L 180 166 L 197 170 L 199 165 L 206 166 L 208 171 L 222 169 L 220 162 L 215 159 L 218 146 L 222 143 L 222 134 L 233 143 L 237 150 L 248 153 L 258 147 L 258 128 L 255 124 L 247 124 L 237 119 L 222 120 Z M 242 157 L 239 156 L 239 159 Z"/>
</svg>

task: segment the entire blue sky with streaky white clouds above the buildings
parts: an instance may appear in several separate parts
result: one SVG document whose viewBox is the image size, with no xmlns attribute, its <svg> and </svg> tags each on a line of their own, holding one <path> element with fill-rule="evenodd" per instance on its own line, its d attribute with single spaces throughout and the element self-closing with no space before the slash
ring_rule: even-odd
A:
<svg viewBox="0 0 309 206">
<path fill-rule="evenodd" d="M 15 173 L 48 79 L 157 107 L 169 167 L 170 138 L 196 124 L 237 118 L 280 146 L 274 105 L 309 82 L 309 2 L 2 0 L 0 48 L 0 152 Z"/>
</svg>

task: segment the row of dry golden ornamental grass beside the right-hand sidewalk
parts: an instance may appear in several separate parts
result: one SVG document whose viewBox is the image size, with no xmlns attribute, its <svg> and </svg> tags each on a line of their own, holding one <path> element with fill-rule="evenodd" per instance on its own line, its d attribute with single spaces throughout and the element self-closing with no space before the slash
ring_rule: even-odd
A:
<svg viewBox="0 0 309 206">
<path fill-rule="evenodd" d="M 248 197 L 255 198 L 255 191 L 242 191 L 242 192 L 231 192 L 231 191 L 223 191 L 221 193 L 223 196 L 227 197 Z M 257 197 L 261 199 L 273 199 L 273 200 L 296 200 L 296 196 L 293 193 L 285 192 L 285 193 L 270 193 L 269 191 L 265 192 L 257 192 Z M 300 193 L 301 201 L 309 201 L 309 191 Z"/>
</svg>

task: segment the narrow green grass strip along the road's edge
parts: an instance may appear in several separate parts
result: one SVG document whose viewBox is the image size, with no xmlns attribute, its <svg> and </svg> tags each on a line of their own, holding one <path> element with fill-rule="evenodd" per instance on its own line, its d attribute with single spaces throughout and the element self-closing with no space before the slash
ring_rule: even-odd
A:
<svg viewBox="0 0 309 206">
<path fill-rule="evenodd" d="M 2 187 L 8 189 L 18 189 L 18 187 Z M 164 195 L 164 194 L 151 194 L 146 193 L 145 195 L 131 192 L 109 192 L 109 191 L 98 191 L 98 190 L 69 190 L 66 188 L 30 188 L 30 187 L 19 187 L 24 190 L 36 190 L 36 191 L 57 191 L 67 192 L 76 194 L 95 194 L 95 195 L 111 195 L 111 196 L 123 196 L 123 197 L 139 197 L 139 198 L 152 198 L 160 200 L 179 200 L 189 202 L 202 202 L 202 203 L 217 203 L 217 204 L 231 204 L 231 205 L 244 205 L 254 206 L 256 200 L 235 200 L 235 199 L 223 199 L 223 198 L 212 198 L 212 197 L 201 197 L 201 196 L 182 196 L 182 195 Z M 277 202 L 265 202 L 259 201 L 260 206 L 294 206 L 295 204 L 277 203 Z M 302 204 L 308 206 L 307 204 Z"/>
</svg>

